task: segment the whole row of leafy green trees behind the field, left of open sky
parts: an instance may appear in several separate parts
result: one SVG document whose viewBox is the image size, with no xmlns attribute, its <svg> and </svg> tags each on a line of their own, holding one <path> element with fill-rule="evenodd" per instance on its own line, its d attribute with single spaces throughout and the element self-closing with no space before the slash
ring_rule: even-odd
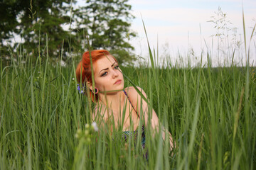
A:
<svg viewBox="0 0 256 170">
<path fill-rule="evenodd" d="M 110 50 L 120 63 L 134 60 L 129 43 L 136 34 L 128 0 L 1 0 L 0 52 L 11 51 L 51 58 Z M 14 38 L 21 38 L 15 42 Z"/>
</svg>

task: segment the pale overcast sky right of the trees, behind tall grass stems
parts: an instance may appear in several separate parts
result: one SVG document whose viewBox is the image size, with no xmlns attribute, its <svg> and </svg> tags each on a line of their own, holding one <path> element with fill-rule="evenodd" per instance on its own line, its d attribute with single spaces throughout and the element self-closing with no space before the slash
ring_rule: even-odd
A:
<svg viewBox="0 0 256 170">
<path fill-rule="evenodd" d="M 138 38 L 134 38 L 131 42 L 136 47 L 137 55 L 143 57 L 148 55 L 148 50 L 142 18 L 151 47 L 156 49 L 159 42 L 159 54 L 166 53 L 168 49 L 167 53 L 170 53 L 174 60 L 178 57 L 178 52 L 185 55 L 191 48 L 196 55 L 200 56 L 202 50 L 206 51 L 205 41 L 209 48 L 217 48 L 217 42 L 212 46 L 211 35 L 215 35 L 218 31 L 213 23 L 207 21 L 211 20 L 211 16 L 216 16 L 219 7 L 223 13 L 227 14 L 227 21 L 232 23 L 228 24 L 228 28 L 238 28 L 238 39 L 243 38 L 242 6 L 245 13 L 247 39 L 256 23 L 256 0 L 130 0 L 129 4 L 132 5 L 132 13 L 136 17 L 132 21 L 132 30 L 138 34 Z M 230 38 L 232 33 L 233 31 L 230 30 Z M 251 47 L 254 48 L 255 54 L 256 49 L 253 43 L 256 42 L 252 42 Z M 210 50 L 213 51 L 211 48 Z M 251 57 L 255 60 L 255 55 Z M 213 62 L 218 60 L 222 59 L 215 58 Z M 238 57 L 237 60 L 241 59 Z"/>
</svg>

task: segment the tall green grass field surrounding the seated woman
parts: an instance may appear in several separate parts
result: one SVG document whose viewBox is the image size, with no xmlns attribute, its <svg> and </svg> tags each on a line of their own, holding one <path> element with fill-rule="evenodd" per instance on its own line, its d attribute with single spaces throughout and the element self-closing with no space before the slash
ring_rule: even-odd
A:
<svg viewBox="0 0 256 170">
<path fill-rule="evenodd" d="M 173 135 L 177 147 L 169 153 L 161 136 L 147 129 L 142 150 L 140 139 L 124 142 L 119 130 L 85 128 L 93 104 L 77 91 L 77 63 L 53 67 L 47 56 L 21 60 L 11 58 L 8 66 L 1 60 L 0 169 L 256 167 L 253 68 L 121 67 Z"/>
</svg>

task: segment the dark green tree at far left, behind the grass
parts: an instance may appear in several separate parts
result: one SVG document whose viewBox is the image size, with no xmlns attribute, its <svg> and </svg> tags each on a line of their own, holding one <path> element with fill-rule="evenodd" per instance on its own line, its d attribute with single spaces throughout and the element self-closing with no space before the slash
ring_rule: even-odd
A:
<svg viewBox="0 0 256 170">
<path fill-rule="evenodd" d="M 67 30 L 63 29 L 65 24 L 70 23 L 70 16 L 67 14 L 68 4 L 70 4 L 70 0 L 1 2 L 6 10 L 1 9 L 9 13 L 4 15 L 4 18 L 0 18 L 1 45 L 4 45 L 3 40 L 13 38 L 16 33 L 21 36 L 23 42 L 15 43 L 14 48 L 23 47 L 28 54 L 46 52 L 44 47 L 46 47 L 46 35 L 48 35 L 48 54 L 58 57 L 61 48 L 68 48 L 68 40 L 73 37 Z M 4 26 L 9 27 L 5 28 Z"/>
</svg>

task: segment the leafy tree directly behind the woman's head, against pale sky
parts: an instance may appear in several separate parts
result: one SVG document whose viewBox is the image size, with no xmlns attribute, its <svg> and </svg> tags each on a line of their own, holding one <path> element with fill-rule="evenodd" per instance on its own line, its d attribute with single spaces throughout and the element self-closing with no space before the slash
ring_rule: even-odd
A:
<svg viewBox="0 0 256 170">
<path fill-rule="evenodd" d="M 86 5 L 75 11 L 78 23 L 78 35 L 82 44 L 86 44 L 85 35 L 89 36 L 92 49 L 110 50 L 119 63 L 134 60 L 129 38 L 135 33 L 129 30 L 134 18 L 130 13 L 132 6 L 128 0 L 87 0 Z"/>
</svg>

